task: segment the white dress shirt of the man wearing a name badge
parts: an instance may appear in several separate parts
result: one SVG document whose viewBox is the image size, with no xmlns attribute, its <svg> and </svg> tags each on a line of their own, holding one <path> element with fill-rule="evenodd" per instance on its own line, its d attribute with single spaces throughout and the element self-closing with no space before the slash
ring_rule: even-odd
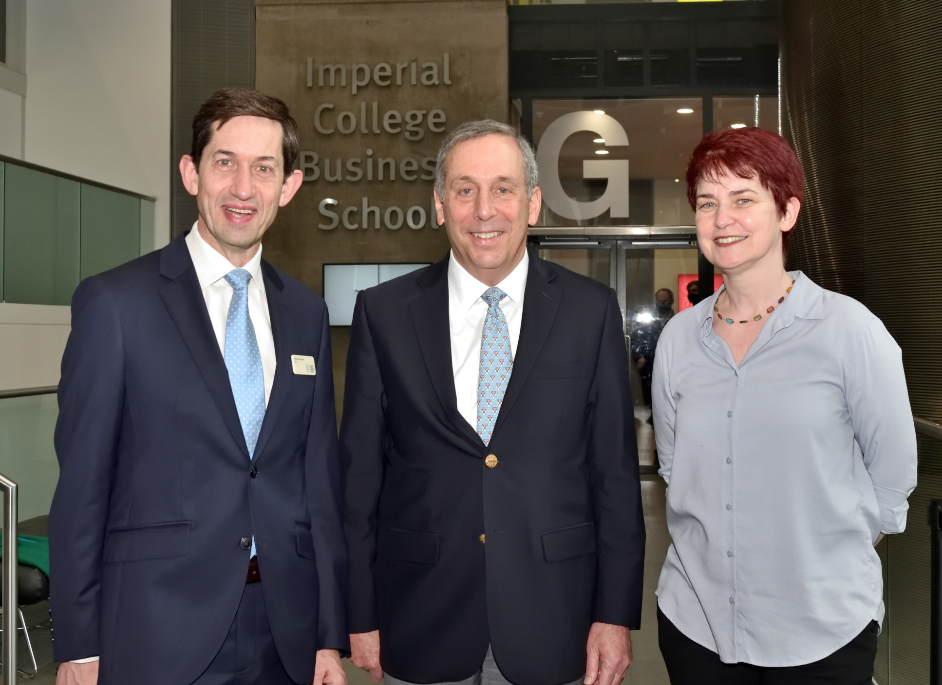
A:
<svg viewBox="0 0 942 685">
<path fill-rule="evenodd" d="M 219 342 L 219 352 L 225 357 L 226 317 L 229 315 L 229 304 L 233 299 L 233 287 L 225 276 L 237 267 L 203 240 L 196 224 L 193 224 L 187 235 L 187 249 L 193 266 L 196 267 L 196 278 L 200 279 L 209 320 L 213 323 L 216 342 Z M 265 406 L 268 406 L 271 384 L 275 380 L 276 363 L 275 341 L 271 337 L 271 319 L 268 316 L 268 299 L 265 296 L 265 279 L 262 278 L 262 246 L 258 246 L 255 256 L 242 268 L 252 274 L 252 279 L 249 280 L 249 317 L 255 329 L 258 353 L 262 357 Z"/>
</svg>

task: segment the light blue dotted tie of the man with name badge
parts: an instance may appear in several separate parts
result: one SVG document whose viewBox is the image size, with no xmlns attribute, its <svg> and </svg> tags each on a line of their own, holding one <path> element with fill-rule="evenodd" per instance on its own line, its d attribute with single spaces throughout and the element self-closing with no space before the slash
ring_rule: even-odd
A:
<svg viewBox="0 0 942 685">
<path fill-rule="evenodd" d="M 265 375 L 255 328 L 249 316 L 249 280 L 252 274 L 245 269 L 233 269 L 225 278 L 233 287 L 233 300 L 226 317 L 226 369 L 229 370 L 229 383 L 233 387 L 242 434 L 252 458 L 258 432 L 265 419 Z"/>
</svg>

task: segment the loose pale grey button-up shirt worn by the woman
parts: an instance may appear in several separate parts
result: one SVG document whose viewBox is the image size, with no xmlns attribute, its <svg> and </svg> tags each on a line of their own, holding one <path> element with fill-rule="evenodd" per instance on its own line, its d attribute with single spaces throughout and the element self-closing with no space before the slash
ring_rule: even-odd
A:
<svg viewBox="0 0 942 685">
<path fill-rule="evenodd" d="M 719 293 L 667 323 L 654 362 L 673 540 L 658 606 L 726 663 L 819 661 L 881 622 L 873 543 L 903 530 L 916 486 L 899 345 L 859 302 L 789 275 L 739 365 L 713 330 Z"/>
</svg>

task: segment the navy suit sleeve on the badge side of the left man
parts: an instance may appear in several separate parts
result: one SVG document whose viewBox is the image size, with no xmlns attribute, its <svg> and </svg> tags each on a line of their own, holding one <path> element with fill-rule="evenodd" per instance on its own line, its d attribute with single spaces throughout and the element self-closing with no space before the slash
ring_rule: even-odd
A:
<svg viewBox="0 0 942 685">
<path fill-rule="evenodd" d="M 333 406 L 333 358 L 327 308 L 321 308 L 317 385 L 311 407 L 305 469 L 311 533 L 317 558 L 320 597 L 317 648 L 349 653 L 347 631 L 347 543 L 343 529 L 343 491 Z"/>
</svg>

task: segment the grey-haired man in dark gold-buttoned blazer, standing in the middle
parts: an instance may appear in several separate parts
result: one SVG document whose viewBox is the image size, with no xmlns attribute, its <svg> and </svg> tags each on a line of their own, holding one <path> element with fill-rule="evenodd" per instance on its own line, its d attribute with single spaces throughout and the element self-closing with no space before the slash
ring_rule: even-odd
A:
<svg viewBox="0 0 942 685">
<path fill-rule="evenodd" d="M 613 685 L 644 550 L 615 293 L 528 253 L 536 164 L 508 126 L 463 124 L 437 172 L 449 257 L 353 317 L 352 660 L 387 685 Z"/>
</svg>

